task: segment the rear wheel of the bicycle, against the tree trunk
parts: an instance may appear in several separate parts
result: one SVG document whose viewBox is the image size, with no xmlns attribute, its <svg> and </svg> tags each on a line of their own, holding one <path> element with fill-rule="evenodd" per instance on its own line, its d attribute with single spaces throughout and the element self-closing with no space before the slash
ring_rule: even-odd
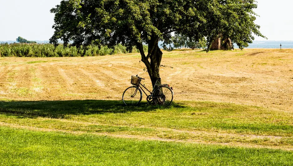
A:
<svg viewBox="0 0 293 166">
<path fill-rule="evenodd" d="M 155 104 L 169 106 L 173 101 L 173 90 L 168 86 L 161 86 L 154 91 Z"/>
</svg>

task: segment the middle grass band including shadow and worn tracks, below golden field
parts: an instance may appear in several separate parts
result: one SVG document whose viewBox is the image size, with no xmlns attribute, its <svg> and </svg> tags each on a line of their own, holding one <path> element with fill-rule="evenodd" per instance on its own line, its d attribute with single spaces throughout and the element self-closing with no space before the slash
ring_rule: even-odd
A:
<svg viewBox="0 0 293 166">
<path fill-rule="evenodd" d="M 2 101 L 0 123 L 30 129 L 201 140 L 293 149 L 293 115 L 262 107 L 177 102 L 172 107 L 121 101 Z"/>
</svg>

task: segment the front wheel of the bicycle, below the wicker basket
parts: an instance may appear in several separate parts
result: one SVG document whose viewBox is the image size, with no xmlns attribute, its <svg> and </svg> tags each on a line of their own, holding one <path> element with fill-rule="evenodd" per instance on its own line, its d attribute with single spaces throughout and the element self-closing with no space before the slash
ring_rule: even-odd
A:
<svg viewBox="0 0 293 166">
<path fill-rule="evenodd" d="M 129 87 L 124 91 L 122 100 L 127 106 L 136 106 L 142 101 L 142 91 L 136 86 Z"/>
</svg>

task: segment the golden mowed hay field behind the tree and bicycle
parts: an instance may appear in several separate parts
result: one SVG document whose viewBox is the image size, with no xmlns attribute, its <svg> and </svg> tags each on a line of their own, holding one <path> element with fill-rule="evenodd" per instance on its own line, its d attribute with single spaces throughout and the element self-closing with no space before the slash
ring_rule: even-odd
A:
<svg viewBox="0 0 293 166">
<path fill-rule="evenodd" d="M 293 50 L 164 52 L 175 101 L 228 102 L 293 112 Z M 151 83 L 140 55 L 0 57 L 0 100 L 121 100 L 131 75 Z M 145 97 L 144 97 L 145 99 Z"/>
</svg>

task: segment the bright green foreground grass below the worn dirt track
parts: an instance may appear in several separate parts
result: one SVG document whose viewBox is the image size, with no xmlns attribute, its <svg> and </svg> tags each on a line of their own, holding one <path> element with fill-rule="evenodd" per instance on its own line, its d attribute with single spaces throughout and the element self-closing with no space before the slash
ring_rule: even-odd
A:
<svg viewBox="0 0 293 166">
<path fill-rule="evenodd" d="M 282 150 L 0 127 L 1 165 L 292 165 L 292 158 Z"/>
</svg>

